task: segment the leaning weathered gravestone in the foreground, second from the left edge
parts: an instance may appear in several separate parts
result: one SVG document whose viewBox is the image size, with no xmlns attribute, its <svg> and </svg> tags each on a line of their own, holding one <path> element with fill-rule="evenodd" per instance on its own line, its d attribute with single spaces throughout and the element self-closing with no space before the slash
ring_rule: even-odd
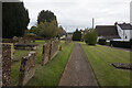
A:
<svg viewBox="0 0 132 88">
<path fill-rule="evenodd" d="M 30 52 L 22 57 L 19 85 L 24 86 L 35 74 L 36 53 Z"/>
</svg>

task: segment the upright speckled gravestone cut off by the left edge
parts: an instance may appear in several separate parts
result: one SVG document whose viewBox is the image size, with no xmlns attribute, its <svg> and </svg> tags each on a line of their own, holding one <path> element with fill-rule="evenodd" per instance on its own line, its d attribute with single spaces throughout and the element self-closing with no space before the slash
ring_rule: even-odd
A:
<svg viewBox="0 0 132 88">
<path fill-rule="evenodd" d="M 11 77 L 11 45 L 2 44 L 2 86 L 10 86 Z"/>
</svg>

